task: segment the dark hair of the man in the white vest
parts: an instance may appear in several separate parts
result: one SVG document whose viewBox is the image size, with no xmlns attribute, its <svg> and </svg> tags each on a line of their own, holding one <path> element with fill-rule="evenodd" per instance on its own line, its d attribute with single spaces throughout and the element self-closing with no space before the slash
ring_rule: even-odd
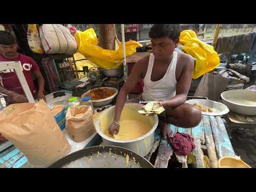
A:
<svg viewBox="0 0 256 192">
<path fill-rule="evenodd" d="M 173 41 L 180 37 L 179 24 L 155 24 L 149 31 L 150 38 L 169 37 Z"/>
</svg>

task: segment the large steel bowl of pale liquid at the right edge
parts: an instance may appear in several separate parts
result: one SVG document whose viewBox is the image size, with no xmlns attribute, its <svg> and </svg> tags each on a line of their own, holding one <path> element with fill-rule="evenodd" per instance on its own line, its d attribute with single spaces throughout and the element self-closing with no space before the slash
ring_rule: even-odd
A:
<svg viewBox="0 0 256 192">
<path fill-rule="evenodd" d="M 242 115 L 256 115 L 256 91 L 230 90 L 221 93 L 223 104 Z"/>
</svg>

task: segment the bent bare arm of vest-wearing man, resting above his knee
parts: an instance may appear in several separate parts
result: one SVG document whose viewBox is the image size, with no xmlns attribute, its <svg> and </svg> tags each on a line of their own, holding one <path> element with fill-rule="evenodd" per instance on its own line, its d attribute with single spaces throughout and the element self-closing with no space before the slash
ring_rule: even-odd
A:
<svg viewBox="0 0 256 192">
<path fill-rule="evenodd" d="M 192 81 L 194 69 L 194 60 L 190 57 L 187 59 L 187 63 L 183 67 L 180 78 L 177 82 L 176 95 L 166 101 L 162 101 L 164 107 L 176 107 L 186 102 L 188 91 Z"/>
</svg>

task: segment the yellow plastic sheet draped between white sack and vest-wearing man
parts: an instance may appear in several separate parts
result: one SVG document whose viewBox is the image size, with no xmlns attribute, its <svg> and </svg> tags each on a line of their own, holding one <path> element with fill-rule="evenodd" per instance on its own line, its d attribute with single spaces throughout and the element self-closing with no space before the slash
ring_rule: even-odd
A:
<svg viewBox="0 0 256 192">
<path fill-rule="evenodd" d="M 98 67 L 105 69 L 122 67 L 122 43 L 116 51 L 102 49 L 97 46 L 98 39 L 92 28 L 83 32 L 77 31 L 75 38 L 78 44 L 78 52 Z M 141 45 L 135 41 L 125 42 L 126 57 L 135 53 L 139 46 Z"/>
</svg>

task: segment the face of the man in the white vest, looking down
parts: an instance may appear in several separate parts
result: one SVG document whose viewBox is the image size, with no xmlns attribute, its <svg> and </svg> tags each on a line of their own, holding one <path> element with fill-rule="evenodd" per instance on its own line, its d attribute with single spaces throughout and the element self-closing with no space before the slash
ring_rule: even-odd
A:
<svg viewBox="0 0 256 192">
<path fill-rule="evenodd" d="M 157 60 L 170 59 L 175 47 L 178 46 L 179 38 L 173 41 L 169 37 L 151 39 L 152 52 Z"/>
</svg>

